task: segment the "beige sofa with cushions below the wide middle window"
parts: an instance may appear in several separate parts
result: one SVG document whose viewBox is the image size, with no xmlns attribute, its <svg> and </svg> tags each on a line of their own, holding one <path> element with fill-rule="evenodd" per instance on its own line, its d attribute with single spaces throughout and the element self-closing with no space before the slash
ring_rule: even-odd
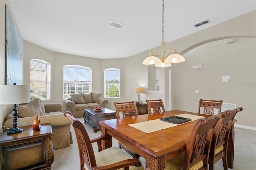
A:
<svg viewBox="0 0 256 170">
<path fill-rule="evenodd" d="M 101 93 L 76 93 L 71 94 L 70 97 L 64 101 L 64 104 L 67 106 L 67 111 L 71 112 L 75 118 L 83 117 L 84 109 L 106 107 L 108 104 L 107 99 L 100 98 Z"/>
</svg>

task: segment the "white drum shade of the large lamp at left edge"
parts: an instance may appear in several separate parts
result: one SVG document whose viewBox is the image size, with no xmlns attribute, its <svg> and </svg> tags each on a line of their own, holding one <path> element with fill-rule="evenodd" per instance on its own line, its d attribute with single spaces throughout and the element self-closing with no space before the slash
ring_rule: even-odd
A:
<svg viewBox="0 0 256 170">
<path fill-rule="evenodd" d="M 0 85 L 0 105 L 29 103 L 28 85 Z"/>
</svg>

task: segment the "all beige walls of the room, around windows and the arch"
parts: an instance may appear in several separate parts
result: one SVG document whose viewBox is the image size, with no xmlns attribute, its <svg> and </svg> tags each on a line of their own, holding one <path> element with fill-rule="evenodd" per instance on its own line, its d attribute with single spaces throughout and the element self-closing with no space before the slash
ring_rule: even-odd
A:
<svg viewBox="0 0 256 170">
<path fill-rule="evenodd" d="M 4 1 L 0 1 L 0 4 L 0 82 L 4 84 L 4 50 L 2 50 L 4 49 Z M 186 61 L 173 64 L 171 67 L 160 68 L 162 75 L 160 77 L 160 89 L 162 89 L 162 93 L 147 93 L 148 65 L 142 65 L 142 61 L 148 56 L 150 49 L 125 59 L 94 59 L 52 52 L 24 41 L 23 81 L 24 84 L 30 82 L 31 58 L 42 59 L 51 63 L 51 100 L 45 103 L 63 104 L 63 65 L 77 64 L 92 68 L 92 91 L 96 93 L 104 92 L 103 70 L 118 68 L 121 76 L 120 99 L 109 99 L 107 105 L 109 109 L 114 110 L 114 101 L 137 100 L 138 94 L 135 94 L 134 91 L 135 87 L 138 86 L 144 87 L 144 93 L 140 94 L 141 100 L 163 99 L 165 107 L 169 108 L 168 72 L 172 70 L 172 101 L 170 102 L 172 109 L 195 112 L 200 98 L 221 98 L 224 103 L 236 103 L 237 106 L 244 107 L 244 111 L 237 116 L 238 124 L 255 128 L 255 16 L 255 11 L 250 12 L 244 16 L 170 42 L 172 47 L 184 55 Z M 253 39 L 238 39 L 246 36 Z M 226 44 L 225 40 L 222 40 L 232 37 L 236 39 L 231 44 Z M 171 46 L 170 43 L 166 46 Z M 209 53 L 209 51 L 211 52 Z M 249 60 L 247 62 L 240 61 L 241 54 L 242 57 L 248 56 Z M 223 59 L 223 62 L 219 62 L 220 59 Z M 202 65 L 202 69 L 192 69 L 192 65 L 199 64 Z M 209 73 L 214 72 L 217 72 L 217 75 L 211 74 L 212 82 L 204 87 L 202 79 L 208 77 Z M 230 81 L 221 83 L 221 76 L 225 75 L 230 75 Z M 209 82 L 209 78 L 206 79 Z M 252 87 L 242 87 L 243 83 L 250 83 Z M 200 90 L 200 93 L 194 93 L 195 89 Z M 209 92 L 208 89 L 214 89 L 214 91 Z M 215 91 L 218 92 L 215 93 Z M 65 109 L 66 106 L 63 105 L 63 111 Z M 2 106 L 0 111 L 1 123 L 3 123 L 4 117 L 11 112 L 10 107 Z"/>
</svg>

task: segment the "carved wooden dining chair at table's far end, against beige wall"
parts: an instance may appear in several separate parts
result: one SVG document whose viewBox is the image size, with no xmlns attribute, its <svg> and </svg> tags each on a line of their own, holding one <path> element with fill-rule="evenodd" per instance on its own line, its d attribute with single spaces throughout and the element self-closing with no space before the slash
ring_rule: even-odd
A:
<svg viewBox="0 0 256 170">
<path fill-rule="evenodd" d="M 204 115 L 214 115 L 214 109 L 218 109 L 218 113 L 220 113 L 222 105 L 222 100 L 199 100 L 197 113 L 201 113 L 201 108 L 203 112 L 201 114 Z"/>
</svg>

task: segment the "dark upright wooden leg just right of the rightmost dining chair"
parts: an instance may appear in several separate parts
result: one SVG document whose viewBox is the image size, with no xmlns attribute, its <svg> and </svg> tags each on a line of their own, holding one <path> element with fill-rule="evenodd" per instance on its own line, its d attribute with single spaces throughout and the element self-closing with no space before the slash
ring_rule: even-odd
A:
<svg viewBox="0 0 256 170">
<path fill-rule="evenodd" d="M 234 131 L 234 123 L 232 124 L 229 138 L 228 138 L 228 168 L 233 168 L 234 166 L 234 140 L 235 140 L 235 131 Z"/>
</svg>

